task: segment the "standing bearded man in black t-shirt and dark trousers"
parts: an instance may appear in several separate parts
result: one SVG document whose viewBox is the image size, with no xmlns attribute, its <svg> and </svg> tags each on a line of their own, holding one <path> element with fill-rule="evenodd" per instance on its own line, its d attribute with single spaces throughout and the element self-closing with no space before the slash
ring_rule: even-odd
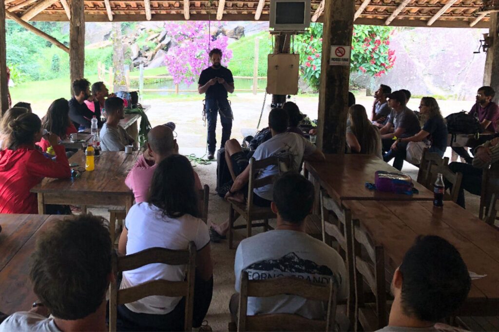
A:
<svg viewBox="0 0 499 332">
<path fill-rule="evenodd" d="M 210 51 L 210 61 L 212 66 L 201 72 L 198 82 L 198 92 L 200 95 L 206 93 L 205 112 L 208 120 L 208 159 L 213 159 L 217 146 L 215 129 L 217 128 L 217 116 L 220 112 L 220 123 L 222 123 L 222 143 L 231 138 L 232 115 L 231 105 L 227 100 L 227 93 L 234 92 L 234 78 L 232 72 L 226 67 L 222 67 L 222 51 L 214 48 Z"/>
</svg>

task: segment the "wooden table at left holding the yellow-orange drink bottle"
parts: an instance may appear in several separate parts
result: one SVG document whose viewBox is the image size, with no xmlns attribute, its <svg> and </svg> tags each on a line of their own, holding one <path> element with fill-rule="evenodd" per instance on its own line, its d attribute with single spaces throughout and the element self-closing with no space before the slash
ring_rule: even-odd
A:
<svg viewBox="0 0 499 332">
<path fill-rule="evenodd" d="M 101 151 L 95 158 L 95 170 L 83 172 L 78 178 L 49 179 L 31 189 L 38 194 L 38 213 L 44 214 L 46 204 L 123 206 L 126 212 L 133 204 L 133 193 L 125 185 L 125 178 L 140 152 Z M 85 167 L 83 151 L 76 152 L 69 163 Z"/>
</svg>

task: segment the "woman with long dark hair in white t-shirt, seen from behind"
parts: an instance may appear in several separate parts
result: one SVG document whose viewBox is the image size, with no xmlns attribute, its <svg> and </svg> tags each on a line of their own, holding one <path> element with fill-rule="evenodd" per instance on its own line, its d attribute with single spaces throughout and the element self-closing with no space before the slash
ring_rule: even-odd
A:
<svg viewBox="0 0 499 332">
<path fill-rule="evenodd" d="M 191 163 L 186 157 L 173 154 L 154 171 L 147 202 L 130 209 L 118 244 L 120 254 L 130 255 L 153 247 L 184 250 L 190 241 L 196 243 L 195 329 L 201 327 L 213 294 L 210 235 L 208 226 L 198 215 Z M 124 271 L 120 288 L 149 280 L 183 281 L 184 278 L 183 265 L 149 264 Z M 117 327 L 118 331 L 183 331 L 184 314 L 185 298 L 150 296 L 118 306 Z"/>
</svg>

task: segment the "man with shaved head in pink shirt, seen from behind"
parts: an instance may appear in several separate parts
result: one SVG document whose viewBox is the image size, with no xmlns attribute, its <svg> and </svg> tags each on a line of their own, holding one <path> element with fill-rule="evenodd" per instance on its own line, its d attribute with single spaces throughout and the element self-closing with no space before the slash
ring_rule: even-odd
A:
<svg viewBox="0 0 499 332">
<path fill-rule="evenodd" d="M 159 125 L 151 129 L 147 135 L 147 150 L 139 157 L 126 177 L 125 184 L 133 191 L 135 202 L 147 200 L 149 186 L 154 170 L 163 159 L 179 153 L 177 140 L 173 138 L 173 131 L 166 125 Z M 194 171 L 196 189 L 203 189 L 199 176 Z"/>
</svg>

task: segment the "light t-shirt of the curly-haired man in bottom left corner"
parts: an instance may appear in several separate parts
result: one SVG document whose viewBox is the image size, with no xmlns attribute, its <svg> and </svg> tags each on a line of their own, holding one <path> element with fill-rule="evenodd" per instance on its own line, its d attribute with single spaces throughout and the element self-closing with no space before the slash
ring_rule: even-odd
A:
<svg viewBox="0 0 499 332">
<path fill-rule="evenodd" d="M 30 312 L 18 312 L 7 317 L 0 324 L 0 332 L 12 331 L 38 331 L 38 332 L 60 332 L 55 325 L 52 316 L 45 318 Z"/>
</svg>

